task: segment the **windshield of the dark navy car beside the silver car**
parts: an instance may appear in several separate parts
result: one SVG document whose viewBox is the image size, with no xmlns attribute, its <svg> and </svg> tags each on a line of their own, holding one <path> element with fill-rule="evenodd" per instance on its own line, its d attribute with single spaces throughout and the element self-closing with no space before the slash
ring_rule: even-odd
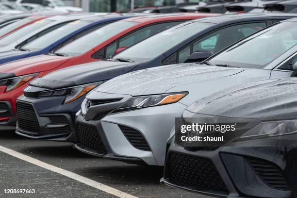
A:
<svg viewBox="0 0 297 198">
<path fill-rule="evenodd" d="M 201 22 L 182 23 L 147 38 L 137 45 L 118 53 L 113 58 L 127 58 L 136 62 L 153 59 L 211 25 L 213 24 Z"/>
</svg>

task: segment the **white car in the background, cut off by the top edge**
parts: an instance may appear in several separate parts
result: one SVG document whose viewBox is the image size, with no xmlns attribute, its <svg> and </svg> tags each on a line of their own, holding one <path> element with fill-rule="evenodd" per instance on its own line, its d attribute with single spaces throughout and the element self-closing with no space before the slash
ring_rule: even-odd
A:
<svg viewBox="0 0 297 198">
<path fill-rule="evenodd" d="M 50 7 L 56 12 L 82 12 L 82 8 L 66 6 L 62 0 L 16 0 L 16 4 L 34 3 Z"/>
</svg>

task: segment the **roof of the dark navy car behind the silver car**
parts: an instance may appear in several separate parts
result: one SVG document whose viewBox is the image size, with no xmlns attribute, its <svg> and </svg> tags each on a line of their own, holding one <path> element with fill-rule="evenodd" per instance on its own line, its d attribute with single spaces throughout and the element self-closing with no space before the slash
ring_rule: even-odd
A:
<svg viewBox="0 0 297 198">
<path fill-rule="evenodd" d="M 207 22 L 207 23 L 234 23 L 234 22 L 244 22 L 250 20 L 272 20 L 276 17 L 290 17 L 296 16 L 297 14 L 289 14 L 289 13 L 247 13 L 247 14 L 238 14 L 238 15 L 222 15 L 222 16 L 214 16 L 207 18 L 199 18 L 192 21 L 195 22 Z"/>
</svg>

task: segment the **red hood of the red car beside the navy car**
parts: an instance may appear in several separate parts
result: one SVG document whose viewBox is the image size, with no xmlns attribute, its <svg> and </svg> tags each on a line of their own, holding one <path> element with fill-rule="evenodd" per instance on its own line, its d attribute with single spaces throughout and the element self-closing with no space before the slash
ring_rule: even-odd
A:
<svg viewBox="0 0 297 198">
<path fill-rule="evenodd" d="M 0 73 L 14 73 L 16 76 L 52 70 L 72 57 L 39 55 L 0 65 Z"/>
</svg>

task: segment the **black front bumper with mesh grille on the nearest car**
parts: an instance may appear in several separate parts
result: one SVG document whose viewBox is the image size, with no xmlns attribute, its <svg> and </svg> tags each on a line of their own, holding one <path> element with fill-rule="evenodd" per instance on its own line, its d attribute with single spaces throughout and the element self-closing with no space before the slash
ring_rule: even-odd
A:
<svg viewBox="0 0 297 198">
<path fill-rule="evenodd" d="M 175 155 L 179 157 L 173 163 Z M 292 160 L 297 160 L 297 148 L 221 147 L 190 151 L 172 143 L 161 182 L 216 197 L 295 198 L 297 167 L 292 166 Z M 204 163 L 199 164 L 201 161 Z M 197 169 L 193 169 L 193 164 Z M 216 182 L 211 184 L 213 181 Z"/>
</svg>

